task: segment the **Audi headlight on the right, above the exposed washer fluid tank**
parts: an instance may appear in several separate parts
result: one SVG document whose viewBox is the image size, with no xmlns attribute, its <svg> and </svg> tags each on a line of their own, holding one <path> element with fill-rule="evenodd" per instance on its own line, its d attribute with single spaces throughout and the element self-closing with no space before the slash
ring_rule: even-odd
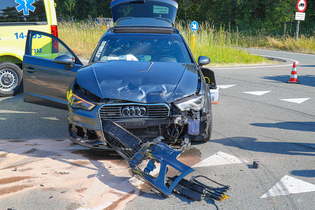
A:
<svg viewBox="0 0 315 210">
<path fill-rule="evenodd" d="M 195 110 L 199 111 L 204 105 L 204 95 L 187 98 L 185 100 L 174 103 L 181 111 Z"/>
</svg>

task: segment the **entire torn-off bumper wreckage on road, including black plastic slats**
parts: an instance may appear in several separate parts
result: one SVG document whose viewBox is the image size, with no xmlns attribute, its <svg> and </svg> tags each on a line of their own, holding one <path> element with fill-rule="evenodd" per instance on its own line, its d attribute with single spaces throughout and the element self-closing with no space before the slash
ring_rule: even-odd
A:
<svg viewBox="0 0 315 210">
<path fill-rule="evenodd" d="M 151 185 L 163 195 L 168 197 L 174 190 L 194 200 L 211 197 L 223 201 L 229 197 L 224 194 L 229 190 L 228 186 L 217 183 L 223 187 L 212 188 L 193 178 L 189 181 L 184 180 L 183 178 L 194 169 L 176 159 L 181 152 L 163 143 L 161 141 L 163 137 L 144 141 L 111 120 L 102 121 L 102 130 L 106 142 L 128 161 L 130 174 Z M 143 163 L 146 163 L 145 168 L 141 166 Z M 157 166 L 160 167 L 159 173 L 152 174 Z M 166 177 L 169 167 L 176 169 L 180 174 L 172 178 Z"/>
</svg>

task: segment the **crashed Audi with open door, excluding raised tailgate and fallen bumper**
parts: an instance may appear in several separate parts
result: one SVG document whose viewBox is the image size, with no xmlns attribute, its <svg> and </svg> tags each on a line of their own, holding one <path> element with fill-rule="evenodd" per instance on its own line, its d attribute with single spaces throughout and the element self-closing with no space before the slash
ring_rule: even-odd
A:
<svg viewBox="0 0 315 210">
<path fill-rule="evenodd" d="M 51 47 L 34 52 L 38 35 L 50 39 Z M 24 101 L 67 109 L 69 138 L 77 144 L 111 149 L 104 120 L 143 141 L 163 136 L 168 144 L 183 145 L 210 139 L 211 99 L 204 77 L 214 76 L 202 68 L 210 60 L 200 56 L 196 64 L 174 28 L 111 28 L 86 66 L 60 39 L 44 32 L 29 31 L 26 53 Z"/>
</svg>

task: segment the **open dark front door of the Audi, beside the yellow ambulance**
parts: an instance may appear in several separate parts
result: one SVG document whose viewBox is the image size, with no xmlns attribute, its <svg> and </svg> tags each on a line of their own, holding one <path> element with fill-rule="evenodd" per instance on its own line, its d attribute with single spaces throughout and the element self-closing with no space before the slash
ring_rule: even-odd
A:
<svg viewBox="0 0 315 210">
<path fill-rule="evenodd" d="M 59 38 L 29 30 L 23 57 L 24 102 L 67 110 L 67 89 L 82 66 Z"/>
</svg>

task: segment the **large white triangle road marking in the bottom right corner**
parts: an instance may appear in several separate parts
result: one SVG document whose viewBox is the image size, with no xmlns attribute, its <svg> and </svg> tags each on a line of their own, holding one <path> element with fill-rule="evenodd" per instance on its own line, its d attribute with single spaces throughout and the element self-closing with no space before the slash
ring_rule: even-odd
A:
<svg viewBox="0 0 315 210">
<path fill-rule="evenodd" d="M 301 192 L 315 191 L 315 185 L 294 177 L 285 175 L 270 190 L 268 190 L 261 198 L 282 196 Z"/>
</svg>

